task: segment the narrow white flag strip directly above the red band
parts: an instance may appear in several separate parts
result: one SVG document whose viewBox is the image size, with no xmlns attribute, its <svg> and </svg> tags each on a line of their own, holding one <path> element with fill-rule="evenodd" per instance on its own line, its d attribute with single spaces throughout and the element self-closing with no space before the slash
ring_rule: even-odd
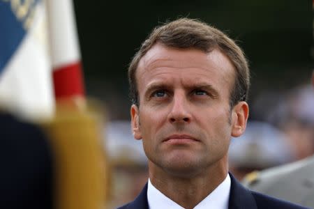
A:
<svg viewBox="0 0 314 209">
<path fill-rule="evenodd" d="M 80 61 L 72 0 L 48 0 L 47 15 L 52 67 Z"/>
</svg>

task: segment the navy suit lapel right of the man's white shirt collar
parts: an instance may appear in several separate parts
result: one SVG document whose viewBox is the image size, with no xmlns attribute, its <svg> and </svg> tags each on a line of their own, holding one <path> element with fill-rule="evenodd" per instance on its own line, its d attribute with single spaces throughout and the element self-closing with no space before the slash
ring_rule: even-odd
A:
<svg viewBox="0 0 314 209">
<path fill-rule="evenodd" d="M 233 176 L 229 173 L 231 178 L 231 189 L 229 198 L 229 209 L 257 209 L 255 199 L 250 190 L 243 187 Z"/>
</svg>

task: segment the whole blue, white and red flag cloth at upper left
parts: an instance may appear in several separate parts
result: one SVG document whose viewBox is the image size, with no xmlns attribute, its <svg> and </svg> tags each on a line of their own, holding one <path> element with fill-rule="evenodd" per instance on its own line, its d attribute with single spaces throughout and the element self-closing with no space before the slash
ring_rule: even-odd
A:
<svg viewBox="0 0 314 209">
<path fill-rule="evenodd" d="M 0 108 L 38 121 L 84 98 L 71 0 L 0 1 Z"/>
</svg>

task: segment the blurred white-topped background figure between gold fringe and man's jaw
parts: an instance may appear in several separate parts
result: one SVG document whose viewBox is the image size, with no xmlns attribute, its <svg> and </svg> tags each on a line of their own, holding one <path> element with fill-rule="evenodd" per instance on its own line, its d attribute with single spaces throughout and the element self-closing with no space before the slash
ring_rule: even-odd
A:
<svg viewBox="0 0 314 209">
<path fill-rule="evenodd" d="M 130 121 L 107 123 L 105 139 L 112 172 L 108 208 L 117 208 L 135 199 L 147 182 L 147 157 L 142 149 L 142 141 L 132 140 Z"/>
</svg>

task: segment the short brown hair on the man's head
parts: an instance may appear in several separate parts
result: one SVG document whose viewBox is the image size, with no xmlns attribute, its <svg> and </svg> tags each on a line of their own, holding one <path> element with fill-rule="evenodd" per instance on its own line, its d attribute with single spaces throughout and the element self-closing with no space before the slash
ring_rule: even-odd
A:
<svg viewBox="0 0 314 209">
<path fill-rule="evenodd" d="M 181 18 L 156 27 L 133 57 L 128 68 L 130 98 L 133 104 L 138 106 L 140 102 L 135 76 L 137 65 L 156 42 L 160 42 L 167 47 L 179 49 L 200 49 L 206 53 L 219 49 L 220 52 L 223 52 L 230 59 L 236 69 L 234 86 L 230 95 L 230 107 L 233 107 L 234 104 L 240 101 L 247 100 L 250 72 L 241 48 L 222 31 L 215 29 L 213 26 L 209 26 L 199 20 Z"/>
</svg>

